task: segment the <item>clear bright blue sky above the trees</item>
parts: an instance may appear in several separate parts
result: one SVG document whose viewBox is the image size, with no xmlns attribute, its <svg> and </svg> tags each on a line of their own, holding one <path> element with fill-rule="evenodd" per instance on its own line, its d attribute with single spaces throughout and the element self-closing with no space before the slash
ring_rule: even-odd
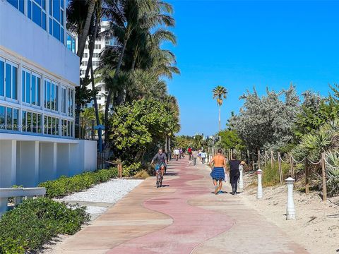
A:
<svg viewBox="0 0 339 254">
<path fill-rule="evenodd" d="M 170 47 L 182 74 L 169 80 L 179 100 L 179 134 L 218 131 L 213 87 L 229 94 L 222 126 L 247 89 L 263 94 L 297 86 L 328 94 L 339 83 L 339 1 L 168 0 L 178 44 Z"/>
</svg>

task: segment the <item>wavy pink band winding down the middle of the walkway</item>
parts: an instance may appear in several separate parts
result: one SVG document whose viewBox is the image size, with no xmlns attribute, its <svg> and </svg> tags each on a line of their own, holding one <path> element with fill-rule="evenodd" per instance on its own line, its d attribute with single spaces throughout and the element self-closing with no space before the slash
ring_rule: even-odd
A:
<svg viewBox="0 0 339 254">
<path fill-rule="evenodd" d="M 172 217 L 173 224 L 152 234 L 127 241 L 107 253 L 190 253 L 203 241 L 231 228 L 234 221 L 226 214 L 204 210 L 187 203 L 191 198 L 210 193 L 210 189 L 189 185 L 189 181 L 203 179 L 203 176 L 194 174 L 196 169 L 185 165 L 186 159 L 176 163 L 176 167 L 181 169 L 179 179 L 164 181 L 164 184 L 169 184 L 169 188 L 175 188 L 177 191 L 144 202 L 146 208 Z"/>
</svg>

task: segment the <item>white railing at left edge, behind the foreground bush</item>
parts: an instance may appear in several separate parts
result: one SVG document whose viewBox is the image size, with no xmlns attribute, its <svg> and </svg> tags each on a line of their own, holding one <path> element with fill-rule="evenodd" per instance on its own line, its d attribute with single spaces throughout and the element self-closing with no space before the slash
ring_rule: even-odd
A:
<svg viewBox="0 0 339 254">
<path fill-rule="evenodd" d="M 14 205 L 30 199 L 46 195 L 46 188 L 0 188 L 0 217 L 8 210 L 8 198 L 14 198 Z"/>
</svg>

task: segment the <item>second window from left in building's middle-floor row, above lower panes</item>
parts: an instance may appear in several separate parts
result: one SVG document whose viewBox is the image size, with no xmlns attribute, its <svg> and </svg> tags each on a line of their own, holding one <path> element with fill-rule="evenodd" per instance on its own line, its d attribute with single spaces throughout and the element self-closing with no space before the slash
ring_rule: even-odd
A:
<svg viewBox="0 0 339 254">
<path fill-rule="evenodd" d="M 23 70 L 22 95 L 23 102 L 40 106 L 41 76 L 31 71 Z"/>
</svg>

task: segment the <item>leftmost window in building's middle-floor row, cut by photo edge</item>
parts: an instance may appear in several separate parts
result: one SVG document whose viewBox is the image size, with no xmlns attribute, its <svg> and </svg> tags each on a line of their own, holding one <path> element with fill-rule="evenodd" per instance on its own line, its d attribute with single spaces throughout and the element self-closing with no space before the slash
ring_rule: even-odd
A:
<svg viewBox="0 0 339 254">
<path fill-rule="evenodd" d="M 0 96 L 18 99 L 18 66 L 1 58 Z"/>
</svg>

